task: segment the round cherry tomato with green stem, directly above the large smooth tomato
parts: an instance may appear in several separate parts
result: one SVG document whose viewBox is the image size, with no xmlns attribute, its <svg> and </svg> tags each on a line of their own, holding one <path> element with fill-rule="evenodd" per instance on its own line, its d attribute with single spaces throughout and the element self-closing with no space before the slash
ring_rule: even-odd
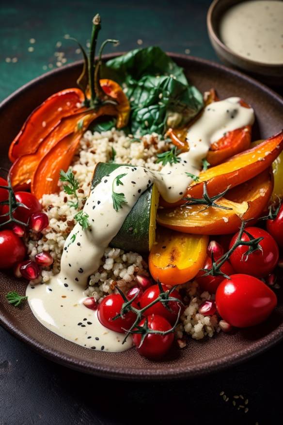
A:
<svg viewBox="0 0 283 425">
<path fill-rule="evenodd" d="M 272 272 L 278 262 L 278 245 L 266 230 L 256 227 L 248 227 L 245 230 L 254 238 L 264 238 L 259 242 L 259 245 L 262 247 L 262 251 L 258 249 L 247 257 L 245 253 L 248 251 L 249 246 L 239 245 L 230 256 L 229 260 L 237 273 L 244 273 L 255 276 L 256 278 L 263 278 Z M 238 233 L 233 236 L 230 242 L 230 248 L 235 243 L 237 235 Z M 249 241 L 250 238 L 246 233 L 243 233 L 241 240 Z"/>
</svg>

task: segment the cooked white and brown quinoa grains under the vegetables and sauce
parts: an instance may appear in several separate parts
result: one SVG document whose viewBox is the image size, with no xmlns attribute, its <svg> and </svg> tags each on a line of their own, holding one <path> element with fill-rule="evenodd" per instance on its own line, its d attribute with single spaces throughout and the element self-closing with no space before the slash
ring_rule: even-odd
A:
<svg viewBox="0 0 283 425">
<path fill-rule="evenodd" d="M 71 164 L 71 170 L 79 181 L 77 191 L 79 209 L 83 207 L 88 197 L 95 164 L 109 162 L 112 159 L 113 149 L 115 163 L 131 163 L 159 171 L 162 165 L 156 163 L 157 153 L 168 150 L 168 143 L 160 140 L 157 134 L 143 136 L 138 142 L 131 135 L 127 136 L 124 131 L 116 129 L 101 133 L 86 131 Z M 65 239 L 76 224 L 74 215 L 78 211 L 69 205 L 69 202 L 75 201 L 75 198 L 63 191 L 62 182 L 59 182 L 58 186 L 58 193 L 44 195 L 41 199 L 43 211 L 49 218 L 48 228 L 43 230 L 39 239 L 36 234 L 30 232 L 26 242 L 28 254 L 32 260 L 42 251 L 49 252 L 54 259 L 52 266 L 44 268 L 41 277 L 32 283 L 41 281 L 46 283 L 60 272 Z M 115 286 L 126 291 L 136 283 L 137 274 L 148 276 L 147 268 L 147 263 L 140 254 L 109 247 L 104 252 L 97 272 L 90 276 L 86 294 L 94 296 L 99 302 L 106 294 L 114 292 Z M 199 294 L 195 282 L 187 284 L 185 298 L 187 305 L 181 317 L 181 323 L 175 330 L 178 340 L 181 341 L 184 332 L 198 340 L 206 335 L 212 337 L 214 332 L 219 331 L 216 315 L 203 316 L 198 312 L 200 304 L 210 297 L 208 293 Z M 185 346 L 184 343 L 179 345 Z"/>
</svg>

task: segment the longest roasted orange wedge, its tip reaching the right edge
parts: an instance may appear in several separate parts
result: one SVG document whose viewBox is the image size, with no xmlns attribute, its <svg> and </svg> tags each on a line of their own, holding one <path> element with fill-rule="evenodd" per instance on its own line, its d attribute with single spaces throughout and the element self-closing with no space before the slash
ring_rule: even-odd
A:
<svg viewBox="0 0 283 425">
<path fill-rule="evenodd" d="M 202 171 L 199 175 L 199 181 L 191 183 L 184 197 L 200 198 L 203 195 L 204 182 L 206 182 L 210 196 L 223 192 L 228 186 L 232 189 L 266 170 L 282 150 L 283 131 L 263 141 L 258 146 L 233 156 L 224 163 Z M 173 207 L 185 202 L 181 199 L 170 204 L 161 198 L 159 204 L 165 207 Z"/>
</svg>

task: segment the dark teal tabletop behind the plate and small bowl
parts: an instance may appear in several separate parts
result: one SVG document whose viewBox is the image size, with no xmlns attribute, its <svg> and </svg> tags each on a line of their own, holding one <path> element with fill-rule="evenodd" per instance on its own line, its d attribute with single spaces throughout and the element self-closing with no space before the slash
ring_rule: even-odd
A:
<svg viewBox="0 0 283 425">
<path fill-rule="evenodd" d="M 120 45 L 105 52 L 157 45 L 167 51 L 216 60 L 206 31 L 206 10 L 210 0 L 195 1 L 0 1 L 0 100 L 38 75 L 44 66 L 56 68 L 56 51 L 63 51 L 67 64 L 81 58 L 75 42 L 90 38 L 92 17 L 102 18 L 100 41 L 117 38 Z M 31 44 L 30 39 L 35 43 Z M 62 42 L 61 48 L 56 43 Z M 28 48 L 34 51 L 29 52 Z M 17 62 L 7 63 L 6 58 Z M 48 70 L 50 70 L 48 68 Z"/>
</svg>

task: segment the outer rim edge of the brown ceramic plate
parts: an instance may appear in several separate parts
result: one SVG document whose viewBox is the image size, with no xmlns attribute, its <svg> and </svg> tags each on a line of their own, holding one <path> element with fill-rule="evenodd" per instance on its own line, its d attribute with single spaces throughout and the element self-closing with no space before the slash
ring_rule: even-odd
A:
<svg viewBox="0 0 283 425">
<path fill-rule="evenodd" d="M 125 52 L 115 52 L 103 56 L 104 60 L 120 56 Z M 167 52 L 167 54 L 176 60 L 182 60 L 188 63 L 197 63 L 199 65 L 212 66 L 216 69 L 220 69 L 225 73 L 234 75 L 240 79 L 245 80 L 249 84 L 256 86 L 259 90 L 265 92 L 268 96 L 271 96 L 276 101 L 279 101 L 283 106 L 283 97 L 277 94 L 274 90 L 270 89 L 266 85 L 254 80 L 252 77 L 247 76 L 246 74 L 239 72 L 235 69 L 228 68 L 227 66 L 218 64 L 216 62 L 197 58 L 194 56 L 188 56 L 184 54 Z M 27 91 L 33 84 L 44 81 L 49 75 L 61 74 L 65 69 L 76 67 L 82 64 L 82 61 L 72 62 L 71 64 L 65 65 L 63 67 L 48 71 L 39 77 L 27 82 L 23 86 L 19 87 L 15 92 L 9 95 L 7 98 L 1 101 L 0 103 L 0 112 L 5 109 L 5 107 L 12 101 L 19 93 L 24 93 Z M 46 344 L 38 342 L 36 339 L 28 336 L 25 332 L 21 331 L 19 328 L 14 326 L 13 322 L 9 320 L 9 315 L 5 315 L 4 312 L 0 311 L 0 324 L 13 336 L 15 336 L 21 342 L 26 343 L 33 351 L 43 355 L 48 360 L 53 360 L 56 363 L 62 364 L 69 368 L 75 369 L 79 372 L 88 373 L 94 376 L 99 377 L 108 377 L 114 379 L 122 380 L 168 380 L 168 379 L 186 379 L 195 376 L 207 375 L 209 373 L 220 372 L 221 370 L 230 368 L 237 364 L 240 364 L 246 360 L 250 360 L 257 355 L 265 352 L 267 349 L 276 345 L 283 339 L 283 323 L 279 325 L 274 331 L 269 333 L 265 339 L 262 341 L 261 345 L 253 346 L 249 345 L 241 349 L 240 351 L 233 353 L 232 355 L 225 355 L 220 359 L 207 360 L 201 364 L 196 364 L 194 367 L 186 367 L 182 369 L 178 365 L 178 370 L 174 368 L 168 368 L 166 372 L 164 370 L 149 370 L 149 369 L 129 369 L 128 372 L 125 372 L 122 366 L 113 366 L 111 364 L 107 365 L 96 365 L 93 362 L 88 361 L 77 361 L 72 356 L 64 354 L 60 350 L 50 349 Z"/>
</svg>

